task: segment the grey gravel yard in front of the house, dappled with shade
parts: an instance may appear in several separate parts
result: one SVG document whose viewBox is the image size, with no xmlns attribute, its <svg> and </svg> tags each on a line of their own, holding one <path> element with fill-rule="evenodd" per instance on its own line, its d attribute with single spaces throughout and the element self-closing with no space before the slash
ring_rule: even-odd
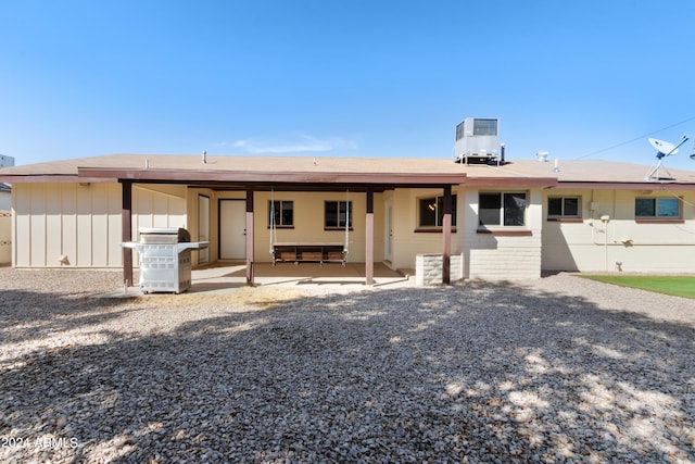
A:
<svg viewBox="0 0 695 464">
<path fill-rule="evenodd" d="M 0 461 L 695 462 L 693 300 L 119 281 L 0 268 Z"/>
</svg>

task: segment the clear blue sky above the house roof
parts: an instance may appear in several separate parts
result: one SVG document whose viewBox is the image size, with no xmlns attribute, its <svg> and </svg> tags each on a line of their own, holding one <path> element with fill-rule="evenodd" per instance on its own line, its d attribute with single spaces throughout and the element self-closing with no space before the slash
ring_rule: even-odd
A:
<svg viewBox="0 0 695 464">
<path fill-rule="evenodd" d="M 694 136 L 695 2 L 0 0 L 0 153 L 654 162 Z"/>
</svg>

